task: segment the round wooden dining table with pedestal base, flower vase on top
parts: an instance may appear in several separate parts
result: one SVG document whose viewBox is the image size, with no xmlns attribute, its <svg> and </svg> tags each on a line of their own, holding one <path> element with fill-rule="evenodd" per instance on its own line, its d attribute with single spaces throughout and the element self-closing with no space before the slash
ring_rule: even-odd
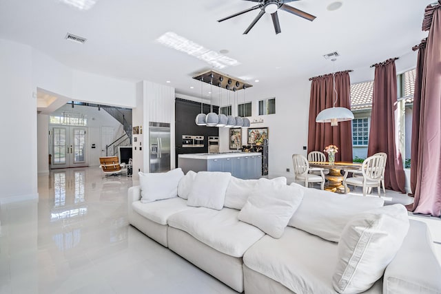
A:
<svg viewBox="0 0 441 294">
<path fill-rule="evenodd" d="M 329 174 L 325 175 L 327 182 L 325 183 L 325 190 L 346 194 L 349 193 L 349 188 L 345 190 L 345 186 L 342 184 L 345 178 L 341 171 L 345 169 L 361 169 L 361 163 L 354 162 L 318 162 L 309 161 L 309 167 L 319 167 L 322 169 L 329 169 Z"/>
</svg>

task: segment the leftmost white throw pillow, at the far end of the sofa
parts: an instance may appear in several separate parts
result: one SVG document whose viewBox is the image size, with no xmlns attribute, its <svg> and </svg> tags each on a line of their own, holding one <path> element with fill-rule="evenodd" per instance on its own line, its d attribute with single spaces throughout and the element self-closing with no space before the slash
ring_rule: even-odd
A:
<svg viewBox="0 0 441 294">
<path fill-rule="evenodd" d="M 145 174 L 139 171 L 141 185 L 141 202 L 148 203 L 155 200 L 178 196 L 178 183 L 184 176 L 182 169 L 172 169 L 166 173 Z"/>
</svg>

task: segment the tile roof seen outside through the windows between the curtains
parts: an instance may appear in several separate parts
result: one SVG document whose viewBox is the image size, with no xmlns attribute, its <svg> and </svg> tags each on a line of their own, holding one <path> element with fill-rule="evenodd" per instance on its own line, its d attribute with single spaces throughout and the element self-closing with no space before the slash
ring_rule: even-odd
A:
<svg viewBox="0 0 441 294">
<path fill-rule="evenodd" d="M 413 103 L 413 92 L 415 91 L 416 69 L 409 70 L 403 74 L 404 93 L 406 104 Z M 351 85 L 351 110 L 370 109 L 372 107 L 373 81 L 356 83 Z"/>
</svg>

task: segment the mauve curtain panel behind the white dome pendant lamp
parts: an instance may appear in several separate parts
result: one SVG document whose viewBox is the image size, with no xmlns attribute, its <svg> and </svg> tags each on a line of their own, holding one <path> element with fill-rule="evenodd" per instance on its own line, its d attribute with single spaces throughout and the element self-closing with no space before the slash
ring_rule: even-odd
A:
<svg viewBox="0 0 441 294">
<path fill-rule="evenodd" d="M 349 71 L 335 74 L 336 91 L 333 99 L 332 74 L 311 78 L 311 98 L 309 101 L 308 153 L 322 151 L 327 145 L 336 145 L 338 153 L 336 161 L 352 162 L 352 127 L 350 121 L 338 123 L 331 127 L 330 123 L 316 123 L 316 116 L 323 109 L 332 107 L 338 98 L 336 107 L 351 109 L 351 81 Z"/>
</svg>

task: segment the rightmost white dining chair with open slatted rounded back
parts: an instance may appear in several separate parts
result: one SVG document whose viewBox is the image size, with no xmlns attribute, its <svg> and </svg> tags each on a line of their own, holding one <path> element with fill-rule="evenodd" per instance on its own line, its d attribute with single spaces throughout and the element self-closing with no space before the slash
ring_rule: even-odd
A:
<svg viewBox="0 0 441 294">
<path fill-rule="evenodd" d="M 378 197 L 380 197 L 381 181 L 384 174 L 384 156 L 373 155 L 369 156 L 362 163 L 361 167 L 362 176 L 347 178 L 349 172 L 345 170 L 343 177 L 343 185 L 345 191 L 347 191 L 347 185 L 362 187 L 363 196 L 366 196 L 367 189 L 377 188 Z"/>
</svg>

